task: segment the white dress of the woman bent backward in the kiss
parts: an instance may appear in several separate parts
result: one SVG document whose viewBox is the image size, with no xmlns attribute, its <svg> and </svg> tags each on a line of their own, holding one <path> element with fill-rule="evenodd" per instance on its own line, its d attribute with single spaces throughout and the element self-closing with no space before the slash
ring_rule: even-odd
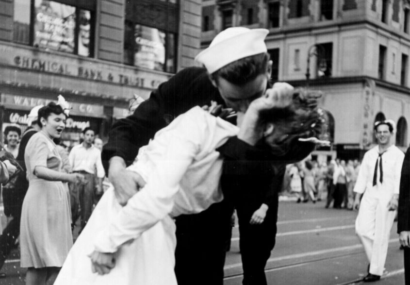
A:
<svg viewBox="0 0 410 285">
<path fill-rule="evenodd" d="M 238 131 L 200 107 L 160 130 L 128 168 L 142 175 L 145 187 L 124 207 L 113 188 L 104 193 L 54 285 L 177 285 L 173 217 L 222 201 L 222 158 L 215 149 Z M 116 252 L 109 274 L 91 272 L 87 254 L 94 250 Z"/>
</svg>

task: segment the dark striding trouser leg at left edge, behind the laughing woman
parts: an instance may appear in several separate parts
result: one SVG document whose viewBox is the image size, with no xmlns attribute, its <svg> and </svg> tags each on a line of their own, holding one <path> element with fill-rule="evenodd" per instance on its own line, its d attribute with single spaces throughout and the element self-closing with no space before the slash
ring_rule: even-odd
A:
<svg viewBox="0 0 410 285">
<path fill-rule="evenodd" d="M 20 235 L 20 216 L 14 217 L 0 235 L 0 268 L 14 248 L 18 235 Z"/>
</svg>

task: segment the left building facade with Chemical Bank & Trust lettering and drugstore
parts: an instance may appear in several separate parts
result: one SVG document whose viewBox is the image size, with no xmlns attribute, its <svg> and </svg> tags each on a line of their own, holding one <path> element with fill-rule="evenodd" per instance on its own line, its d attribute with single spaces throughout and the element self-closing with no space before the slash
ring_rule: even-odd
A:
<svg viewBox="0 0 410 285">
<path fill-rule="evenodd" d="M 200 0 L 0 0 L 0 116 L 27 127 L 37 104 L 72 103 L 64 139 L 103 139 L 150 92 L 194 64 Z"/>
</svg>

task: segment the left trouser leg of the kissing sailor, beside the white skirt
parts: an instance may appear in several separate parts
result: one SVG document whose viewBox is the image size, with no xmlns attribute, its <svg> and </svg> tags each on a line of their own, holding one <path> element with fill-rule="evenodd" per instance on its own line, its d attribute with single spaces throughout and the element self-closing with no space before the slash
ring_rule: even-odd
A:
<svg viewBox="0 0 410 285">
<path fill-rule="evenodd" d="M 195 215 L 176 218 L 178 285 L 223 285 L 233 206 L 227 200 Z"/>
</svg>

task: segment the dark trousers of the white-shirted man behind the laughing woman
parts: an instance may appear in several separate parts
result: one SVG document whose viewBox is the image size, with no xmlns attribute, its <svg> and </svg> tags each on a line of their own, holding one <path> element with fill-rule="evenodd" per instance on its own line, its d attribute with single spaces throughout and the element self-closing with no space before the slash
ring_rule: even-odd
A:
<svg viewBox="0 0 410 285">
<path fill-rule="evenodd" d="M 84 175 L 87 184 L 70 185 L 71 218 L 73 224 L 75 224 L 78 218 L 78 207 L 80 207 L 81 229 L 83 229 L 93 211 L 96 178 L 94 174 L 83 171 L 79 171 L 79 173 Z M 76 201 L 77 199 L 78 201 Z"/>
</svg>

